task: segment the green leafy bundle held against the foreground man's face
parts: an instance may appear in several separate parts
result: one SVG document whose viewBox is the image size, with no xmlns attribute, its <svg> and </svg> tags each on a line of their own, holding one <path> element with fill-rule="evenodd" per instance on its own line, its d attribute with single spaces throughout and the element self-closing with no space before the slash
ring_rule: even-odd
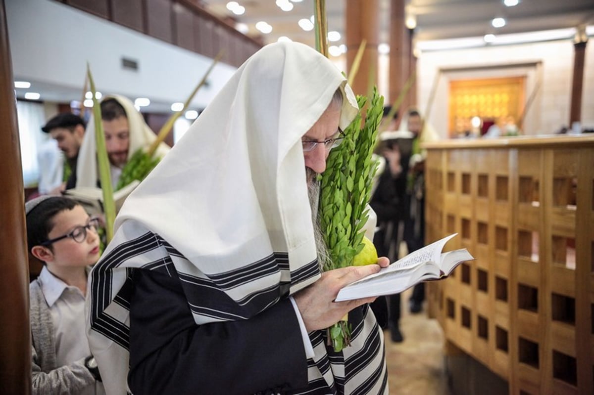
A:
<svg viewBox="0 0 594 395">
<path fill-rule="evenodd" d="M 367 103 L 365 96 L 357 97 L 359 109 Z M 363 227 L 368 219 L 367 204 L 376 164 L 371 155 L 377 139 L 378 127 L 384 109 L 384 97 L 374 87 L 371 105 L 366 110 L 361 127 L 359 113 L 345 130 L 342 144 L 330 151 L 326 171 L 321 176 L 320 226 L 328 247 L 330 261 L 324 271 L 352 265 L 353 258 L 364 247 Z M 341 351 L 350 344 L 347 320 L 328 329 L 328 341 L 334 351 Z"/>
</svg>

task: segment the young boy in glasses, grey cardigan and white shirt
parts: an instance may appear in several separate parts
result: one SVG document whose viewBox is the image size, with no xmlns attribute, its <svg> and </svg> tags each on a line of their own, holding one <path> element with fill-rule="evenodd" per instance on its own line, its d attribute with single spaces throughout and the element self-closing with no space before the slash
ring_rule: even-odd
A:
<svg viewBox="0 0 594 395">
<path fill-rule="evenodd" d="M 61 196 L 40 196 L 25 210 L 29 251 L 44 263 L 29 286 L 33 393 L 105 394 L 84 317 L 87 268 L 99 259 L 97 219 Z"/>
</svg>

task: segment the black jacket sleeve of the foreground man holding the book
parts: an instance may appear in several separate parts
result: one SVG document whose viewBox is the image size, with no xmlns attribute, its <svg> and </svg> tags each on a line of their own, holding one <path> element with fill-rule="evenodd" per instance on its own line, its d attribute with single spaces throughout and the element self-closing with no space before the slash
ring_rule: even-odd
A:
<svg viewBox="0 0 594 395">
<path fill-rule="evenodd" d="M 289 300 L 249 320 L 198 326 L 179 279 L 137 270 L 128 385 L 141 394 L 252 394 L 307 387 L 307 358 Z"/>
</svg>

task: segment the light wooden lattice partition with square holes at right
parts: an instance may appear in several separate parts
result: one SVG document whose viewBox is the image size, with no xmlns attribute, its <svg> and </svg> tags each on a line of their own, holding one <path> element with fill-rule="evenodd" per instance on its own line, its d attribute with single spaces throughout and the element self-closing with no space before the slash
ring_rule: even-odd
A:
<svg viewBox="0 0 594 395">
<path fill-rule="evenodd" d="M 594 136 L 427 145 L 427 241 L 476 260 L 429 311 L 510 394 L 594 393 Z"/>
</svg>

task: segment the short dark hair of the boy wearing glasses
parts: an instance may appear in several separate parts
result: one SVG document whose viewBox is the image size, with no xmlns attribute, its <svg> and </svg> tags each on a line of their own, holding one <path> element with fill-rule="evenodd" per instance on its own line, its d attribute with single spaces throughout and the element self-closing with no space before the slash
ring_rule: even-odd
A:
<svg viewBox="0 0 594 395">
<path fill-rule="evenodd" d="M 27 213 L 27 247 L 29 251 L 48 241 L 48 234 L 55 223 L 53 218 L 62 211 L 72 210 L 78 205 L 76 200 L 64 196 L 53 196 L 40 202 Z M 52 246 L 48 246 L 53 251 Z"/>
</svg>

